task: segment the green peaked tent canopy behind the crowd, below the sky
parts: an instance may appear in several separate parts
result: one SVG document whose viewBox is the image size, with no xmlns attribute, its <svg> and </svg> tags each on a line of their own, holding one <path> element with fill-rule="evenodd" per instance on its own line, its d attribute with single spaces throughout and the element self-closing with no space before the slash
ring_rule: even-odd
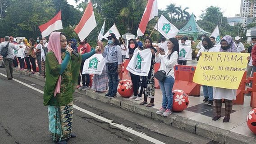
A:
<svg viewBox="0 0 256 144">
<path fill-rule="evenodd" d="M 197 36 L 210 36 L 210 32 L 204 31 L 197 25 L 194 14 L 191 15 L 188 23 L 185 27 L 179 30 L 177 36 L 193 36 L 194 40 L 197 40 Z"/>
</svg>

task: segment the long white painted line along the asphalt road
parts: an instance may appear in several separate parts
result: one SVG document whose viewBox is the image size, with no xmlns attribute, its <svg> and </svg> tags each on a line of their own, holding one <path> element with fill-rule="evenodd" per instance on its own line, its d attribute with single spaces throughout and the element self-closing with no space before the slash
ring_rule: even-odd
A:
<svg viewBox="0 0 256 144">
<path fill-rule="evenodd" d="M 7 77 L 5 74 L 2 74 L 1 72 L 0 72 L 0 75 Z M 18 83 L 21 83 L 21 84 L 23 84 L 23 85 L 25 85 L 25 86 L 27 86 L 27 87 L 33 89 L 33 90 L 38 91 L 38 92 L 41 93 L 41 94 L 44 93 L 42 90 L 39 90 L 39 89 L 37 89 L 37 88 L 35 88 L 35 87 L 31 86 L 31 85 L 28 85 L 28 84 L 26 84 L 26 83 L 24 83 L 24 82 L 22 82 L 22 81 L 19 81 L 19 80 L 14 79 L 14 78 L 13 78 L 13 80 L 14 80 L 14 81 L 17 81 Z M 84 112 L 84 113 L 90 115 L 91 117 L 95 117 L 95 118 L 97 118 L 97 119 L 99 119 L 99 120 L 101 120 L 101 121 L 105 121 L 105 122 L 109 123 L 110 125 L 115 126 L 115 127 L 119 128 L 119 129 L 121 129 L 121 130 L 127 131 L 127 132 L 129 132 L 129 133 L 131 133 L 131 134 L 133 134 L 133 135 L 137 135 L 138 137 L 141 137 L 142 139 L 146 139 L 146 140 L 148 140 L 148 141 L 150 141 L 150 142 L 152 142 L 152 143 L 154 143 L 154 144 L 165 144 L 165 143 L 163 143 L 163 142 L 161 142 L 161 141 L 159 141 L 159 140 L 157 140 L 157 139 L 154 139 L 154 138 L 152 138 L 152 137 L 150 137 L 150 136 L 147 136 L 147 135 L 145 135 L 145 134 L 142 134 L 141 132 L 138 132 L 138 131 L 136 131 L 136 130 L 133 130 L 133 129 L 131 129 L 131 128 L 128 128 L 128 127 L 126 127 L 126 126 L 123 126 L 123 125 L 120 125 L 120 124 L 117 124 L 117 123 L 113 123 L 112 120 L 109 120 L 109 119 L 107 119 L 107 118 L 105 118 L 105 117 L 101 117 L 101 116 L 99 116 L 99 115 L 96 115 L 95 113 L 90 112 L 90 111 L 87 111 L 87 110 L 85 110 L 85 109 L 83 109 L 83 108 L 80 108 L 80 107 L 74 105 L 74 104 L 73 104 L 73 108 L 75 108 L 75 109 L 77 109 L 77 110 L 79 110 L 79 111 L 81 111 L 81 112 Z"/>
</svg>

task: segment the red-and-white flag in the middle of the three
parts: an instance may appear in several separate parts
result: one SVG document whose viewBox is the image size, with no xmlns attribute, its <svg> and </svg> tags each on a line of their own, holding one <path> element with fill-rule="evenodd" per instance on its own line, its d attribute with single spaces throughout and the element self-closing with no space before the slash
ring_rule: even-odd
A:
<svg viewBox="0 0 256 144">
<path fill-rule="evenodd" d="M 82 41 L 91 33 L 91 31 L 96 26 L 97 24 L 93 12 L 93 7 L 90 1 L 74 31 L 78 34 L 79 39 Z"/>
</svg>

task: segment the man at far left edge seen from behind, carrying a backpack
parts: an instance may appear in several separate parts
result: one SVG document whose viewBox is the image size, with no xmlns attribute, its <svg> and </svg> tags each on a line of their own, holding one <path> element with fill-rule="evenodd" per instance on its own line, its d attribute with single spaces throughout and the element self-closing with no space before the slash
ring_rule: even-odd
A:
<svg viewBox="0 0 256 144">
<path fill-rule="evenodd" d="M 18 50 L 19 48 L 16 48 L 13 43 L 10 42 L 10 37 L 5 36 L 5 41 L 0 44 L 0 52 L 5 46 L 8 46 L 8 52 L 7 56 L 3 57 L 4 63 L 5 63 L 5 71 L 7 74 L 8 80 L 13 79 L 13 61 L 14 61 L 14 51 L 13 50 Z"/>
</svg>

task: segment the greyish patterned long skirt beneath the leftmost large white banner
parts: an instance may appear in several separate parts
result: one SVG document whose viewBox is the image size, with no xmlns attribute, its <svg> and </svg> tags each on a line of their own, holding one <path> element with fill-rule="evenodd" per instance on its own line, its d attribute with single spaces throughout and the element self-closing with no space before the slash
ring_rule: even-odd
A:
<svg viewBox="0 0 256 144">
<path fill-rule="evenodd" d="M 100 92 L 108 89 L 108 76 L 106 74 L 106 71 L 102 71 L 101 75 L 93 76 L 91 89 Z"/>
</svg>

